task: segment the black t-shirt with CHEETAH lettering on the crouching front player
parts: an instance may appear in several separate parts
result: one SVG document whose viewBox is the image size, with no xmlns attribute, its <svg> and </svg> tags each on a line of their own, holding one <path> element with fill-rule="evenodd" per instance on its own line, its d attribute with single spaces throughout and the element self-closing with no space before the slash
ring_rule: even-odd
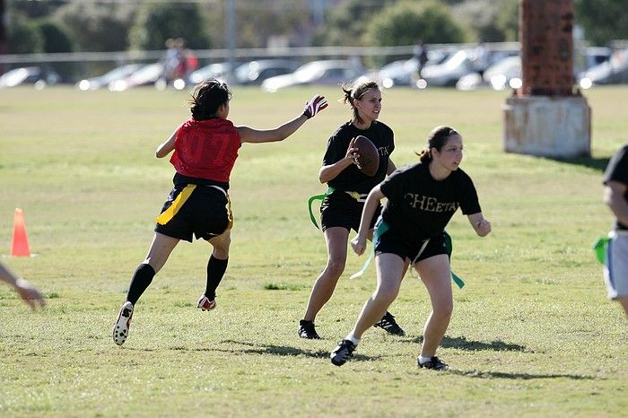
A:
<svg viewBox="0 0 628 418">
<path fill-rule="evenodd" d="M 384 221 L 410 242 L 442 233 L 458 207 L 464 214 L 482 212 L 473 181 L 460 169 L 437 181 L 428 164 L 408 165 L 384 180 L 381 192 L 388 197 Z"/>
</svg>

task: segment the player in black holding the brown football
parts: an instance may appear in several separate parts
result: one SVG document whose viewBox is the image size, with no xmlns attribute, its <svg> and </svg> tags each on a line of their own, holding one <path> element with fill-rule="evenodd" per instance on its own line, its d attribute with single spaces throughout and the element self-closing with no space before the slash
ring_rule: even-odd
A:
<svg viewBox="0 0 628 418">
<path fill-rule="evenodd" d="M 336 129 L 327 141 L 323 166 L 318 172 L 321 183 L 327 183 L 327 196 L 320 206 L 320 223 L 327 244 L 327 266 L 318 275 L 305 317 L 299 322 L 298 334 L 302 338 L 318 339 L 314 320 L 334 293 L 340 275 L 345 271 L 349 232 L 358 230 L 364 200 L 371 189 L 396 170 L 390 160 L 395 149 L 392 129 L 379 122 L 381 91 L 377 83 L 356 83 L 353 88 L 343 87 L 344 101 L 351 106 L 353 117 Z M 353 146 L 356 136 L 363 135 L 371 140 L 379 151 L 379 167 L 374 176 L 367 176 L 358 169 L 356 161 L 359 150 Z M 372 226 L 379 215 L 379 207 L 371 213 L 365 232 L 371 237 Z M 395 317 L 388 312 L 379 316 L 378 327 L 391 334 L 405 335 L 397 325 Z"/>
</svg>

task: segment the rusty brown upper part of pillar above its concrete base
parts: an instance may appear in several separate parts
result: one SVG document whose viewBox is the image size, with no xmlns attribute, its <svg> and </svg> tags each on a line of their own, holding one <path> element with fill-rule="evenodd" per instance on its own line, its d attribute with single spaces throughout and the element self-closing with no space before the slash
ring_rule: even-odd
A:
<svg viewBox="0 0 628 418">
<path fill-rule="evenodd" d="M 573 94 L 572 29 L 571 0 L 519 2 L 519 41 L 523 65 L 523 86 L 519 94 Z"/>
</svg>

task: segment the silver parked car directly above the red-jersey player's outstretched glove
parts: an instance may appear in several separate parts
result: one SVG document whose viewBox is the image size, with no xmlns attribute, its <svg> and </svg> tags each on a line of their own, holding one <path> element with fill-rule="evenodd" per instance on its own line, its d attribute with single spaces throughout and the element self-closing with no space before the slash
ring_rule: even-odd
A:
<svg viewBox="0 0 628 418">
<path fill-rule="evenodd" d="M 364 74 L 362 65 L 349 59 L 312 61 L 301 65 L 294 73 L 270 77 L 262 83 L 265 91 L 277 91 L 285 87 L 304 84 L 333 85 L 345 83 Z"/>
</svg>

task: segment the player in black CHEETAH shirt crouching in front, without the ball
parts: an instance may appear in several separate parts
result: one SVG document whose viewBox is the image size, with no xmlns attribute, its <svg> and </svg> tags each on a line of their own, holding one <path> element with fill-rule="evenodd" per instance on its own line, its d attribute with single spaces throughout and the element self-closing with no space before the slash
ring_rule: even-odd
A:
<svg viewBox="0 0 628 418">
<path fill-rule="evenodd" d="M 418 366 L 434 370 L 448 367 L 435 355 L 453 310 L 445 227 L 458 207 L 480 237 L 491 232 L 491 223 L 484 219 L 473 181 L 458 168 L 462 161 L 462 137 L 455 129 L 434 128 L 427 147 L 419 155 L 420 162 L 397 170 L 374 187 L 366 199 L 358 235 L 351 241 L 358 255 L 366 247 L 372 215 L 378 211 L 379 201 L 388 198 L 373 244 L 377 286 L 353 330 L 331 353 L 336 366 L 352 357 L 362 334 L 397 298 L 404 273 L 408 266 L 413 266 L 432 302 L 432 314 L 423 328 Z"/>
</svg>

